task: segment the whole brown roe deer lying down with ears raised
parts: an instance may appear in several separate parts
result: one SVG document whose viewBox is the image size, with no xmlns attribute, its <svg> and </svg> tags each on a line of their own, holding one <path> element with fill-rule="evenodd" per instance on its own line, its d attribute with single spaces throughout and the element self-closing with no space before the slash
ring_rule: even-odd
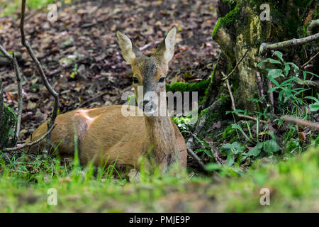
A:
<svg viewBox="0 0 319 227">
<path fill-rule="evenodd" d="M 168 63 L 174 55 L 177 28 L 173 26 L 167 33 L 156 52 L 145 56 L 139 48 L 120 30 L 116 38 L 123 58 L 133 70 L 133 87 L 138 98 L 138 86 L 147 92 L 166 92 L 165 77 Z M 143 95 L 144 95 L 143 94 Z M 166 94 L 166 93 L 165 93 Z M 168 116 L 152 116 L 153 108 L 159 103 L 152 103 L 144 98 L 142 106 L 144 116 L 123 116 L 122 105 L 105 106 L 95 109 L 76 109 L 57 116 L 55 128 L 51 133 L 51 142 L 60 157 L 74 155 L 74 135 L 77 135 L 79 161 L 82 165 L 94 160 L 94 165 L 112 165 L 135 167 L 139 170 L 138 160 L 152 148 L 151 155 L 161 170 L 177 161 L 186 167 L 186 144 L 179 129 Z M 166 99 L 165 99 L 166 104 Z M 132 106 L 138 111 L 137 106 Z M 167 107 L 166 112 L 167 112 Z M 146 114 L 151 114 L 146 116 Z M 26 142 L 37 140 L 47 131 L 47 122 L 40 125 Z M 43 148 L 43 142 L 30 150 Z"/>
</svg>

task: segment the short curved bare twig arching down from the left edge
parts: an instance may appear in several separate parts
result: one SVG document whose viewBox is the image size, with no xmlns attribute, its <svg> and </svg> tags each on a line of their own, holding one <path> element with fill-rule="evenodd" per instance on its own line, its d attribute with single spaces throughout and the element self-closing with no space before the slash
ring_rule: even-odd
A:
<svg viewBox="0 0 319 227">
<path fill-rule="evenodd" d="M 22 84 L 21 84 L 21 70 L 18 65 L 18 61 L 16 60 L 16 55 L 14 52 L 12 56 L 7 52 L 2 45 L 0 45 L 0 52 L 11 61 L 14 71 L 16 72 L 16 82 L 18 84 L 18 112 L 17 112 L 17 121 L 16 121 L 16 128 L 14 131 L 14 138 L 13 138 L 13 146 L 16 145 L 16 141 L 18 140 L 18 136 L 20 133 L 20 126 L 21 126 L 21 116 L 22 116 L 22 107 L 23 107 L 23 100 L 22 100 Z M 2 94 L 2 92 L 1 92 Z M 1 95 L 0 94 L 0 95 Z M 3 102 L 3 94 L 2 94 L 2 102 Z M 2 113 L 1 109 L 0 112 Z M 1 121 L 0 121 L 1 122 Z"/>
</svg>

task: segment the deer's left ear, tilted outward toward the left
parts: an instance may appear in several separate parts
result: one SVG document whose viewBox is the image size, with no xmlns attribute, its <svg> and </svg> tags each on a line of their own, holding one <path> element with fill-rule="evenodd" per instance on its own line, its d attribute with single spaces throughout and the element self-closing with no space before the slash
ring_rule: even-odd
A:
<svg viewBox="0 0 319 227">
<path fill-rule="evenodd" d="M 116 38 L 120 45 L 125 62 L 131 64 L 136 57 L 142 55 L 138 47 L 121 30 L 116 30 Z"/>
</svg>

